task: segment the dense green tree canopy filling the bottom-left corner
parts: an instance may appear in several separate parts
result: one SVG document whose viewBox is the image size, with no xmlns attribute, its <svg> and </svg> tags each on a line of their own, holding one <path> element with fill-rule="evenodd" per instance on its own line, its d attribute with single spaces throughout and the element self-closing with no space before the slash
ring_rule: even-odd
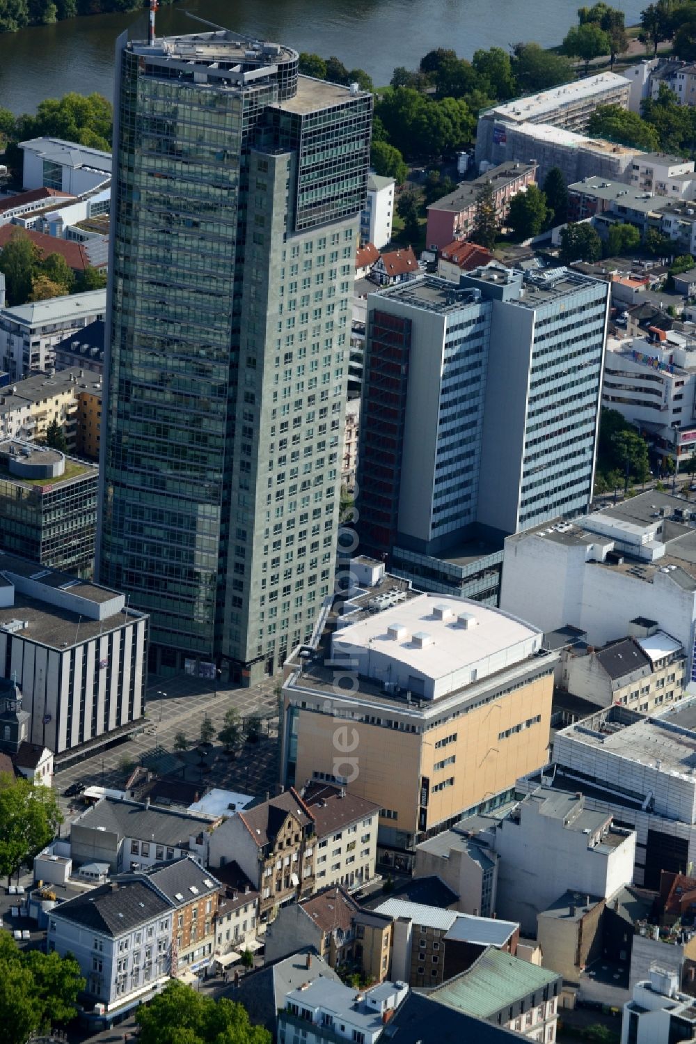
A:
<svg viewBox="0 0 696 1044">
<path fill-rule="evenodd" d="M 74 957 L 20 950 L 9 932 L 0 932 L 0 1024 L 5 1044 L 25 1044 L 32 1034 L 70 1022 L 85 986 Z"/>
</svg>

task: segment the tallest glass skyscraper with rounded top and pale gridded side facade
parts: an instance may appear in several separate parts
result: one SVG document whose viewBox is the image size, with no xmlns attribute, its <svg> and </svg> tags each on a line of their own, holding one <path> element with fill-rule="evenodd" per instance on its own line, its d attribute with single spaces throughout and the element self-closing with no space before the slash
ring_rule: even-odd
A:
<svg viewBox="0 0 696 1044">
<path fill-rule="evenodd" d="M 152 667 L 246 684 L 333 584 L 369 155 L 371 96 L 297 61 L 117 45 L 99 575 L 150 614 Z"/>
</svg>

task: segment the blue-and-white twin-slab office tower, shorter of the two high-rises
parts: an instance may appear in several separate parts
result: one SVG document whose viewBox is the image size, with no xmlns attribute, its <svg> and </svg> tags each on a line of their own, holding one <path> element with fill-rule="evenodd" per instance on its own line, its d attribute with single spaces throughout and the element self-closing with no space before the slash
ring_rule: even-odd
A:
<svg viewBox="0 0 696 1044">
<path fill-rule="evenodd" d="M 370 294 L 361 550 L 495 604 L 503 539 L 590 506 L 608 290 L 490 264 Z"/>
</svg>

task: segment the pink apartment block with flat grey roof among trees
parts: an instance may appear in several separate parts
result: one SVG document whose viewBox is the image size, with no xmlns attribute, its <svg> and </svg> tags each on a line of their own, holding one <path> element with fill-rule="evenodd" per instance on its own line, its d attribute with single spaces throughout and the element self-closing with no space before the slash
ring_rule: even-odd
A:
<svg viewBox="0 0 696 1044">
<path fill-rule="evenodd" d="M 439 251 L 455 239 L 471 237 L 476 219 L 476 200 L 484 185 L 490 185 L 498 221 L 504 224 L 512 196 L 535 181 L 536 164 L 508 161 L 486 170 L 472 182 L 461 182 L 454 192 L 428 207 L 427 247 Z"/>
</svg>

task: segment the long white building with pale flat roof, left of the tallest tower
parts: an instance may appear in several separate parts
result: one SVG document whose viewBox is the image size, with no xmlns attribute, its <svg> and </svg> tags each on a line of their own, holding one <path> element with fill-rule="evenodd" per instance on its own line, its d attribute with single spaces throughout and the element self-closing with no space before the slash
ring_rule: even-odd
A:
<svg viewBox="0 0 696 1044">
<path fill-rule="evenodd" d="M 89 290 L 0 308 L 0 369 L 16 380 L 52 365 L 52 348 L 82 327 L 103 319 L 106 291 Z"/>
</svg>

